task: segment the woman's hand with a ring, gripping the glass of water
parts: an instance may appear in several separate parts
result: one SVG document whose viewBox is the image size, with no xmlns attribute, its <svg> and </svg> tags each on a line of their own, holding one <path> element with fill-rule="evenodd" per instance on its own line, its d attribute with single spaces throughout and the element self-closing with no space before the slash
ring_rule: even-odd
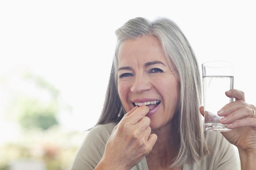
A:
<svg viewBox="0 0 256 170">
<path fill-rule="evenodd" d="M 256 107 L 245 102 L 244 92 L 240 90 L 226 91 L 226 96 L 235 98 L 236 101 L 226 104 L 218 111 L 219 116 L 224 116 L 220 122 L 231 129 L 222 132 L 223 136 L 239 150 L 256 153 Z M 203 113 L 203 107 L 200 112 Z"/>
</svg>

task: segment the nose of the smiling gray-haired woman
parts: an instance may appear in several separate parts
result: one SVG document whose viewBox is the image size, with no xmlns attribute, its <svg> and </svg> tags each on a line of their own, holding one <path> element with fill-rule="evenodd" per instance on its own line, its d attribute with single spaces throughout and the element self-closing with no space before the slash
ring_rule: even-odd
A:
<svg viewBox="0 0 256 170">
<path fill-rule="evenodd" d="M 136 76 L 132 82 L 131 92 L 135 94 L 141 94 L 144 91 L 150 90 L 152 88 L 150 81 L 145 75 Z"/>
</svg>

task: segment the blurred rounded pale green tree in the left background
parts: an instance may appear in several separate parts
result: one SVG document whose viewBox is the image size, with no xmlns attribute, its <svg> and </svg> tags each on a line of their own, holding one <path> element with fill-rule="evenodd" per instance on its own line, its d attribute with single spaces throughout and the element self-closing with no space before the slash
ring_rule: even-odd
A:
<svg viewBox="0 0 256 170">
<path fill-rule="evenodd" d="M 59 90 L 43 77 L 33 74 L 29 69 L 15 71 L 6 77 L 9 108 L 6 117 L 17 120 L 25 129 L 46 130 L 57 125 L 60 110 Z"/>
</svg>

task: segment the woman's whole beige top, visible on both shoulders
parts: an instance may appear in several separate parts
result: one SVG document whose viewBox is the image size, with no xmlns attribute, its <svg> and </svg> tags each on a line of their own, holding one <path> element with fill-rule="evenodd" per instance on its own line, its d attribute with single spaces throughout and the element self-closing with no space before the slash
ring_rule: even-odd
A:
<svg viewBox="0 0 256 170">
<path fill-rule="evenodd" d="M 115 126 L 116 123 L 108 123 L 92 128 L 77 152 L 71 170 L 93 170 Z M 219 132 L 209 132 L 208 137 L 208 144 L 214 149 L 212 154 L 204 157 L 200 164 L 184 165 L 183 170 L 237 170 L 238 159 L 234 147 Z M 146 158 L 132 170 L 148 170 Z"/>
</svg>

